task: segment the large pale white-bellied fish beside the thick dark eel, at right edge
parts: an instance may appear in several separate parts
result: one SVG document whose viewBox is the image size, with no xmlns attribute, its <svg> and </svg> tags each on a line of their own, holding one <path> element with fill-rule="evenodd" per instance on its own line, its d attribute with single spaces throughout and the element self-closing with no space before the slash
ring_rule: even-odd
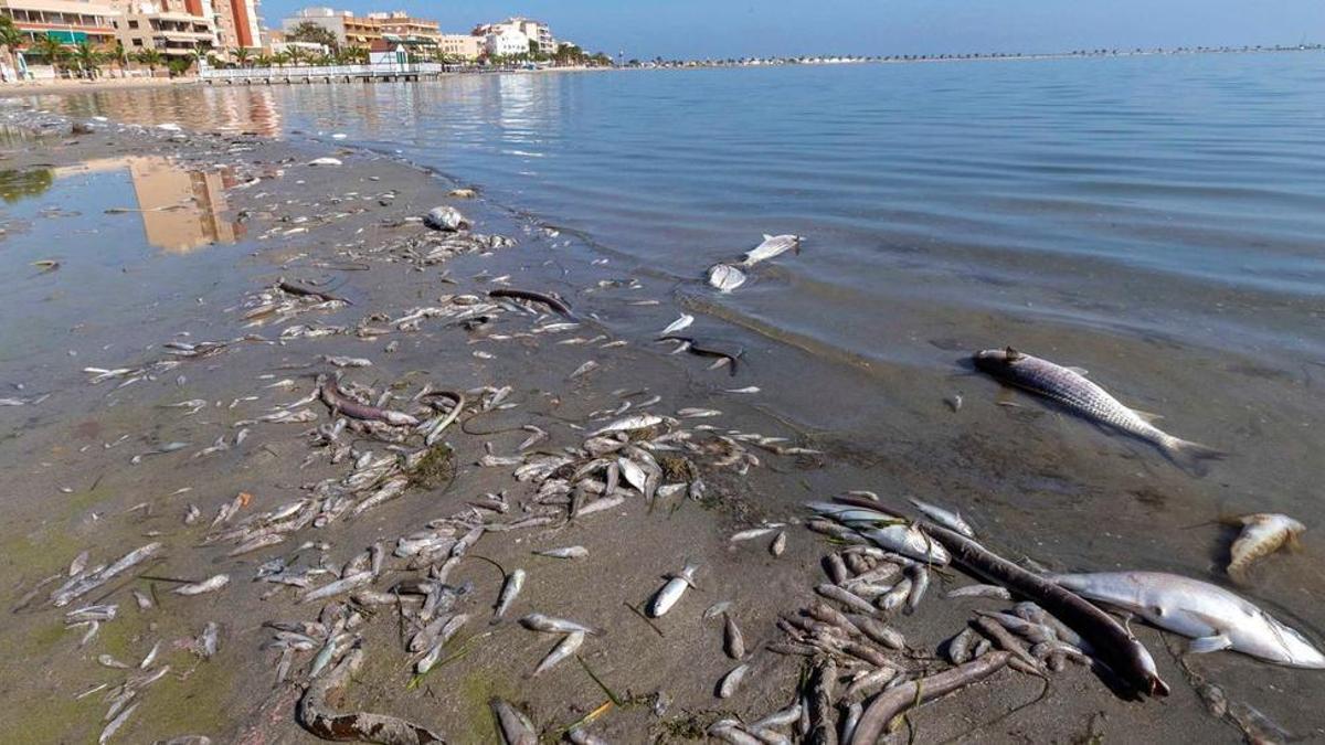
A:
<svg viewBox="0 0 1325 745">
<path fill-rule="evenodd" d="M 1192 654 L 1232 650 L 1283 665 L 1325 668 L 1325 655 L 1305 636 L 1207 582 L 1158 571 L 1051 574 L 1047 579 L 1187 636 Z"/>
</svg>

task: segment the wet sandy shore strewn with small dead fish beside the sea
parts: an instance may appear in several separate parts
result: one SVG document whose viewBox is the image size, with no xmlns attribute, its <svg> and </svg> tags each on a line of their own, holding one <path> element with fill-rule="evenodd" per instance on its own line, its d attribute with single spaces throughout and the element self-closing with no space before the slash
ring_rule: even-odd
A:
<svg viewBox="0 0 1325 745">
<path fill-rule="evenodd" d="M 15 608 L 0 630 L 11 733 L 26 742 L 87 741 L 136 705 L 111 741 L 315 742 L 297 701 L 351 648 L 366 663 L 333 705 L 404 717 L 448 742 L 497 741 L 494 697 L 523 711 L 543 740 L 584 722 L 610 742 L 702 740 L 721 718 L 753 722 L 802 699 L 810 660 L 768 647 L 790 638 L 779 618 L 819 601 L 827 557 L 844 546 L 808 530 L 800 504 L 868 488 L 889 506 L 905 505 L 888 493 L 886 473 L 819 447 L 768 416 L 753 394 L 730 392 L 743 383 L 706 370 L 712 358 L 611 333 L 613 318 L 652 314 L 660 329 L 673 321 L 662 289 L 611 262 L 572 261 L 574 237 L 481 195 L 450 196 L 464 184 L 330 142 L 45 130 L 30 147 L 7 152 L 5 168 L 143 154 L 224 168 L 233 184 L 225 215 L 245 236 L 204 249 L 229 265 L 205 294 L 163 286 L 142 318 L 70 329 L 77 357 L 34 362 L 24 380 L 24 396 L 50 398 L 0 408 L 12 432 L 0 439 L 0 464 L 11 493 L 21 494 L 7 502 L 0 529 L 11 578 L 4 601 Z M 311 166 L 315 158 L 339 164 Z M 473 232 L 423 225 L 419 217 L 441 204 L 460 209 Z M 19 231 L 7 239 L 21 240 Z M 322 297 L 273 289 L 282 278 Z M 570 317 L 488 296 L 510 288 L 556 293 Z M 87 367 L 107 372 L 94 382 L 98 372 Z M 431 422 L 433 443 L 411 427 L 338 418 L 315 384 L 330 374 L 342 375 L 348 395 Z M 464 403 L 447 422 L 454 394 Z M 621 424 L 625 439 L 594 435 L 635 415 L 647 419 Z M 635 469 L 652 464 L 657 475 L 640 480 Z M 759 528 L 767 530 L 730 540 Z M 775 555 L 779 534 L 786 549 Z M 411 553 L 411 541 L 443 549 Z M 81 551 L 89 566 L 106 565 L 154 542 L 162 547 L 151 561 L 76 602 L 50 602 Z M 587 555 L 534 553 L 567 546 Z M 643 618 L 669 575 L 690 562 L 694 587 L 666 615 Z M 496 619 L 517 569 L 523 589 Z M 172 593 L 217 575 L 228 578 L 220 590 Z M 947 667 L 945 643 L 973 610 L 1010 604 L 945 598 L 973 582 L 955 569 L 930 577 L 913 614 L 878 614 L 905 636 L 904 648 L 865 643 L 900 679 Z M 362 582 L 305 599 L 343 578 Z M 427 587 L 432 595 L 420 595 Z M 725 651 L 722 616 L 704 616 L 722 602 L 743 632 L 739 660 Z M 117 611 L 81 644 L 90 627 L 66 627 L 78 620 L 66 614 L 83 603 Z M 433 603 L 453 604 L 435 618 L 468 620 L 440 648 L 437 665 L 417 676 L 423 655 L 408 646 L 427 626 L 420 606 Z M 603 634 L 587 636 L 578 659 L 534 677 L 563 636 L 515 622 L 533 612 Z M 912 712 L 893 737 L 1272 736 L 1273 725 L 1236 700 L 1211 713 L 1202 695 L 1214 695 L 1179 665 L 1179 642 L 1137 632 L 1174 688 L 1166 701 L 1124 700 L 1084 667 L 1043 677 L 1003 669 Z M 876 664 L 835 656 L 844 675 Z M 745 684 L 717 697 L 739 664 L 750 665 Z M 796 726 L 779 730 L 791 736 Z"/>
</svg>

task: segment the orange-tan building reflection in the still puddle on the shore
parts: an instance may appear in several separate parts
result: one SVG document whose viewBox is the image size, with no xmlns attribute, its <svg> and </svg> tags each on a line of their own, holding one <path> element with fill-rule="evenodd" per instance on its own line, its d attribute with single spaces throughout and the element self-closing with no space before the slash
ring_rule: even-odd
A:
<svg viewBox="0 0 1325 745">
<path fill-rule="evenodd" d="M 184 168 L 168 158 L 103 158 L 53 168 L 56 178 L 127 170 L 147 243 L 170 253 L 244 237 L 244 225 L 224 217 L 225 190 L 235 186 L 229 168 Z M 49 184 L 48 184 L 49 186 Z M 40 192 L 38 192 L 40 194 Z M 8 199 L 8 198 L 7 198 Z M 113 211 L 129 209 L 115 208 Z"/>
</svg>

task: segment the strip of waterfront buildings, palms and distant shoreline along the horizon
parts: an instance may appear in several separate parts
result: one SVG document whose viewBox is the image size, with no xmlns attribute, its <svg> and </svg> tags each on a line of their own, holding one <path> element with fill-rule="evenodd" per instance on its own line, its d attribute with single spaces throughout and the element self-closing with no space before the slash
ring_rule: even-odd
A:
<svg viewBox="0 0 1325 745">
<path fill-rule="evenodd" d="M 1057 54 L 965 53 L 652 60 L 590 52 L 527 17 L 443 30 L 403 11 L 355 15 L 311 7 L 265 28 L 258 0 L 0 0 L 0 78 L 188 77 L 215 70 L 386 65 L 432 72 L 545 68 L 704 68 L 795 64 L 1028 60 L 1138 54 L 1320 50 L 1293 46 L 1080 49 Z M 289 82 L 289 78 L 286 78 Z"/>
</svg>

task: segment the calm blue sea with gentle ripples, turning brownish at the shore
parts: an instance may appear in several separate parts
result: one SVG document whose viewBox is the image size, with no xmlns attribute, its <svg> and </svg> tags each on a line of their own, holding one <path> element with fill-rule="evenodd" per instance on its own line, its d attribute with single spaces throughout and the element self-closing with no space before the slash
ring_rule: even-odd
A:
<svg viewBox="0 0 1325 745">
<path fill-rule="evenodd" d="M 655 309 L 604 319 L 747 346 L 734 379 L 859 467 L 946 497 L 1072 569 L 1219 577 L 1226 513 L 1316 526 L 1325 374 L 1318 54 L 469 76 L 417 85 L 159 89 L 78 115 L 399 152 L 584 235 Z M 761 233 L 804 236 L 719 296 Z M 1085 367 L 1230 453 L 1194 479 L 1147 445 L 970 375 L 1015 345 Z M 945 398 L 961 396 L 953 411 Z M 1011 406 L 1003 406 L 1011 404 Z M 828 484 L 812 484 L 828 488 Z M 833 484 L 836 487 L 836 484 Z M 792 494 L 795 497 L 798 494 Z M 1325 627 L 1325 575 L 1276 557 L 1253 590 Z M 1238 661 L 1222 661 L 1238 667 Z M 1276 673 L 1277 675 L 1277 673 Z M 1288 680 L 1289 677 L 1285 677 Z"/>
</svg>

